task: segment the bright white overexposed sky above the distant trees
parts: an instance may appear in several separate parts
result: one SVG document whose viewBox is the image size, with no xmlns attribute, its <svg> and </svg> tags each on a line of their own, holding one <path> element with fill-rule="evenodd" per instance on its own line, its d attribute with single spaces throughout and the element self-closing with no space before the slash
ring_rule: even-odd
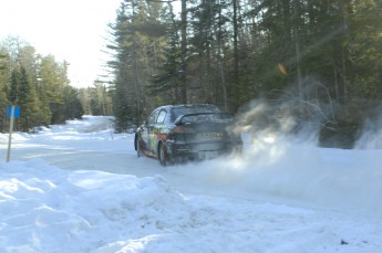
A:
<svg viewBox="0 0 382 253">
<path fill-rule="evenodd" d="M 74 87 L 92 86 L 107 54 L 107 23 L 122 0 L 11 0 L 0 3 L 0 40 L 19 36 L 42 55 L 70 63 Z M 102 78 L 100 78 L 102 80 Z"/>
</svg>

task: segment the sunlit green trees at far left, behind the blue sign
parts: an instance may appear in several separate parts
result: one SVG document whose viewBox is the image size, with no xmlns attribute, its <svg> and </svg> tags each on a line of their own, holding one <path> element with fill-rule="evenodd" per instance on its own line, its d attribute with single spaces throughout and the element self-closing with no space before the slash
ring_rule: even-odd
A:
<svg viewBox="0 0 382 253">
<path fill-rule="evenodd" d="M 7 108 L 20 107 L 17 129 L 62 124 L 81 118 L 83 108 L 78 89 L 70 86 L 66 62 L 35 53 L 19 38 L 0 42 L 0 131 L 7 131 Z"/>
</svg>

